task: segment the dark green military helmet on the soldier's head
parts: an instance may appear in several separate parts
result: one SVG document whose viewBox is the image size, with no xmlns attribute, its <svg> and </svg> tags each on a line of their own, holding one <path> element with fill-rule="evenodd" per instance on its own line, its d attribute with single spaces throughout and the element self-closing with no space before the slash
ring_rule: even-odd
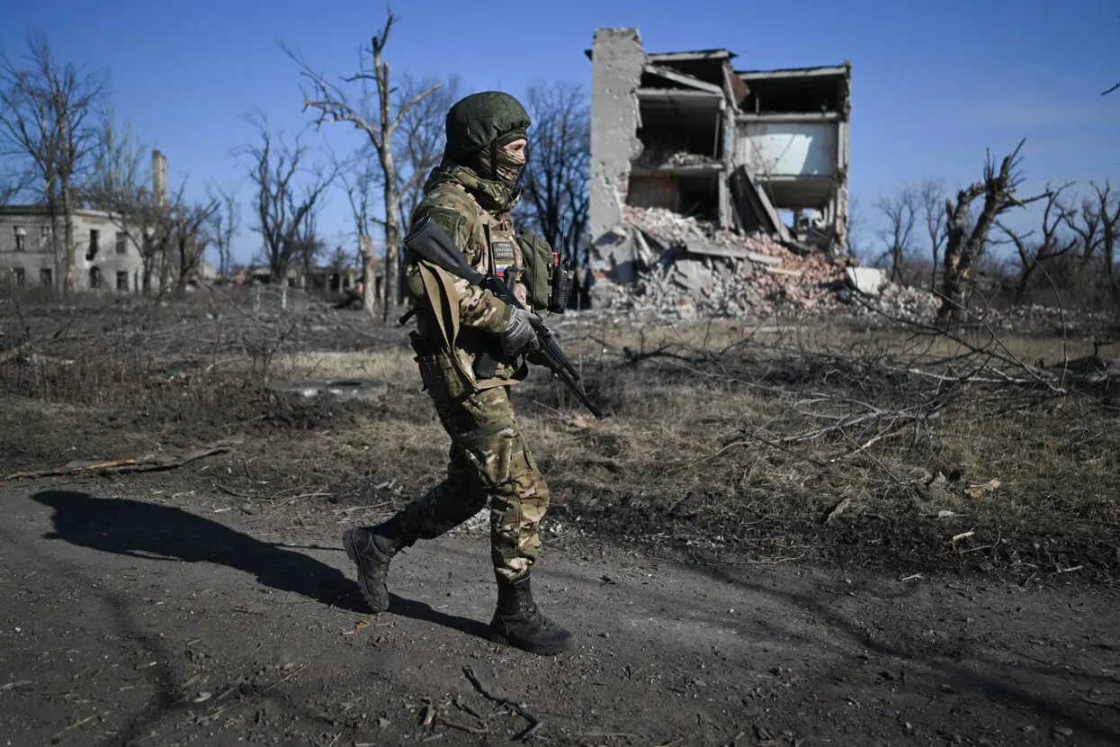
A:
<svg viewBox="0 0 1120 747">
<path fill-rule="evenodd" d="M 497 142 L 503 146 L 525 137 L 529 112 L 521 102 L 502 91 L 484 91 L 460 99 L 447 112 L 447 147 L 444 155 L 465 164 L 479 150 Z"/>
</svg>

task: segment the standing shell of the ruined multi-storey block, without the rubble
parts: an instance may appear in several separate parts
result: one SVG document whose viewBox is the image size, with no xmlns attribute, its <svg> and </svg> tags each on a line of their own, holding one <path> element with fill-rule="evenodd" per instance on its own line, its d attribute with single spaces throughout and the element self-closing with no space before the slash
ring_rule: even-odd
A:
<svg viewBox="0 0 1120 747">
<path fill-rule="evenodd" d="M 726 49 L 647 54 L 634 28 L 598 29 L 588 55 L 598 270 L 635 276 L 626 205 L 844 251 L 849 63 L 736 71 Z"/>
</svg>

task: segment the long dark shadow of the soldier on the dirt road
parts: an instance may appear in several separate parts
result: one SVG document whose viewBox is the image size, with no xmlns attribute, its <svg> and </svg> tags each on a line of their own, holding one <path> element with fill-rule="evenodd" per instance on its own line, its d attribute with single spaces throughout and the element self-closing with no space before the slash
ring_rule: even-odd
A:
<svg viewBox="0 0 1120 747">
<path fill-rule="evenodd" d="M 337 568 L 181 508 L 128 498 L 102 498 L 76 491 L 43 491 L 31 498 L 54 508 L 55 531 L 45 539 L 146 560 L 227 566 L 254 576 L 258 582 L 278 591 L 298 594 L 362 615 L 370 611 L 357 583 Z M 487 631 L 477 620 L 447 615 L 396 595 L 393 595 L 391 610 L 468 635 L 485 636 Z"/>
</svg>

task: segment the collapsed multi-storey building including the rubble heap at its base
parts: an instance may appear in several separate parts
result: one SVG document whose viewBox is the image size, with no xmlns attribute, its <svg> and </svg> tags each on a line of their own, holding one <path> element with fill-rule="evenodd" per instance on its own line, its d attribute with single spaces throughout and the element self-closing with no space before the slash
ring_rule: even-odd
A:
<svg viewBox="0 0 1120 747">
<path fill-rule="evenodd" d="M 591 49 L 592 306 L 684 318 L 832 314 L 852 293 L 922 316 L 847 252 L 851 65 L 743 71 L 727 49 Z"/>
</svg>

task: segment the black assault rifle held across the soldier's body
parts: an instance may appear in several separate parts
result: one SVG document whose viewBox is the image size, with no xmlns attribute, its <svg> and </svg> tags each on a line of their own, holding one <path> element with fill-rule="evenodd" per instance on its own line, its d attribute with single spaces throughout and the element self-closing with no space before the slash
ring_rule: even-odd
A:
<svg viewBox="0 0 1120 747">
<path fill-rule="evenodd" d="M 420 259 L 431 262 L 441 270 L 447 270 L 451 274 L 463 278 L 472 286 L 478 286 L 488 290 L 515 309 L 525 309 L 513 291 L 501 279 L 492 274 L 484 276 L 470 267 L 466 258 L 463 256 L 459 248 L 455 245 L 455 242 L 447 235 L 447 232 L 431 220 L 431 216 L 424 215 L 417 222 L 412 231 L 409 232 L 409 235 L 404 237 L 404 246 Z M 533 332 L 536 333 L 536 342 L 539 343 L 535 357 L 564 386 L 571 390 L 571 393 L 584 403 L 584 407 L 601 420 L 604 418 L 603 411 L 599 410 L 595 402 L 587 395 L 587 392 L 584 391 L 582 384 L 579 383 L 579 373 L 572 367 L 571 361 L 560 348 L 560 343 L 557 342 L 556 335 L 552 334 L 552 330 L 549 329 L 549 326 L 540 317 L 534 315 L 531 319 Z"/>
</svg>

